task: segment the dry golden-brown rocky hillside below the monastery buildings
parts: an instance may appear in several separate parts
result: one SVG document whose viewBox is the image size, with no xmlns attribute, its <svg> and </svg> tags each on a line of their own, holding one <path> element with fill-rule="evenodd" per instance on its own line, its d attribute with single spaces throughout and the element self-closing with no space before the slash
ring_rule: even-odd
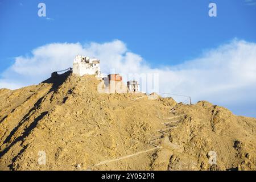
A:
<svg viewBox="0 0 256 182">
<path fill-rule="evenodd" d="M 99 82 L 67 72 L 1 89 L 0 170 L 255 170 L 256 119 L 206 101 L 100 94 Z"/>
</svg>

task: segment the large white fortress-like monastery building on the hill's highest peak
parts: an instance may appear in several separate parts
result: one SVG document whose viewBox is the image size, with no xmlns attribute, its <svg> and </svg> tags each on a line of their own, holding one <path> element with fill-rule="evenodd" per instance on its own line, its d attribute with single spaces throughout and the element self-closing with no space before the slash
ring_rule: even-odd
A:
<svg viewBox="0 0 256 182">
<path fill-rule="evenodd" d="M 73 61 L 73 73 L 75 75 L 96 75 L 102 77 L 100 60 L 77 55 Z"/>
</svg>

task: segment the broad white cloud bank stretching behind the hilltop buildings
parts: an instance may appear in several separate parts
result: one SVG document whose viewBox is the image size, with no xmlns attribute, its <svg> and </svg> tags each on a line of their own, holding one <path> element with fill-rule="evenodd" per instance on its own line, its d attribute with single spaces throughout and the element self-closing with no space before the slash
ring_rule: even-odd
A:
<svg viewBox="0 0 256 182">
<path fill-rule="evenodd" d="M 72 67 L 78 53 L 99 58 L 104 73 L 113 68 L 123 75 L 159 73 L 160 92 L 189 95 L 193 102 L 208 100 L 232 107 L 243 115 L 246 115 L 246 108 L 241 109 L 241 104 L 256 102 L 256 44 L 243 40 L 233 40 L 205 51 L 197 59 L 164 68 L 150 67 L 120 40 L 85 45 L 52 43 L 34 49 L 31 56 L 16 57 L 15 63 L 2 73 L 0 88 L 38 84 L 51 72 Z M 256 111 L 256 106 L 253 110 Z"/>
</svg>

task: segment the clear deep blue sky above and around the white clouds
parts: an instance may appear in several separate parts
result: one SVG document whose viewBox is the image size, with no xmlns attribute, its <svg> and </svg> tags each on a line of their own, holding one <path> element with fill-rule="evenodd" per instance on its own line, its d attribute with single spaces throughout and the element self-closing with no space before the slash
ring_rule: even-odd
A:
<svg viewBox="0 0 256 182">
<path fill-rule="evenodd" d="M 40 2 L 46 3 L 46 18 L 38 16 Z M 210 2 L 217 5 L 217 17 L 208 15 Z M 32 50 L 51 43 L 121 40 L 118 45 L 125 46 L 124 52 L 142 56 L 150 68 L 173 68 L 236 40 L 245 41 L 243 46 L 256 43 L 255 19 L 254 0 L 0 0 L 0 78 L 6 77 L 16 57 L 33 56 Z M 171 91 L 189 94 L 184 89 Z M 256 117 L 254 100 L 246 113 L 237 107 L 242 102 L 225 105 L 210 99 L 217 96 L 195 97 L 222 104 L 236 114 Z"/>
</svg>

